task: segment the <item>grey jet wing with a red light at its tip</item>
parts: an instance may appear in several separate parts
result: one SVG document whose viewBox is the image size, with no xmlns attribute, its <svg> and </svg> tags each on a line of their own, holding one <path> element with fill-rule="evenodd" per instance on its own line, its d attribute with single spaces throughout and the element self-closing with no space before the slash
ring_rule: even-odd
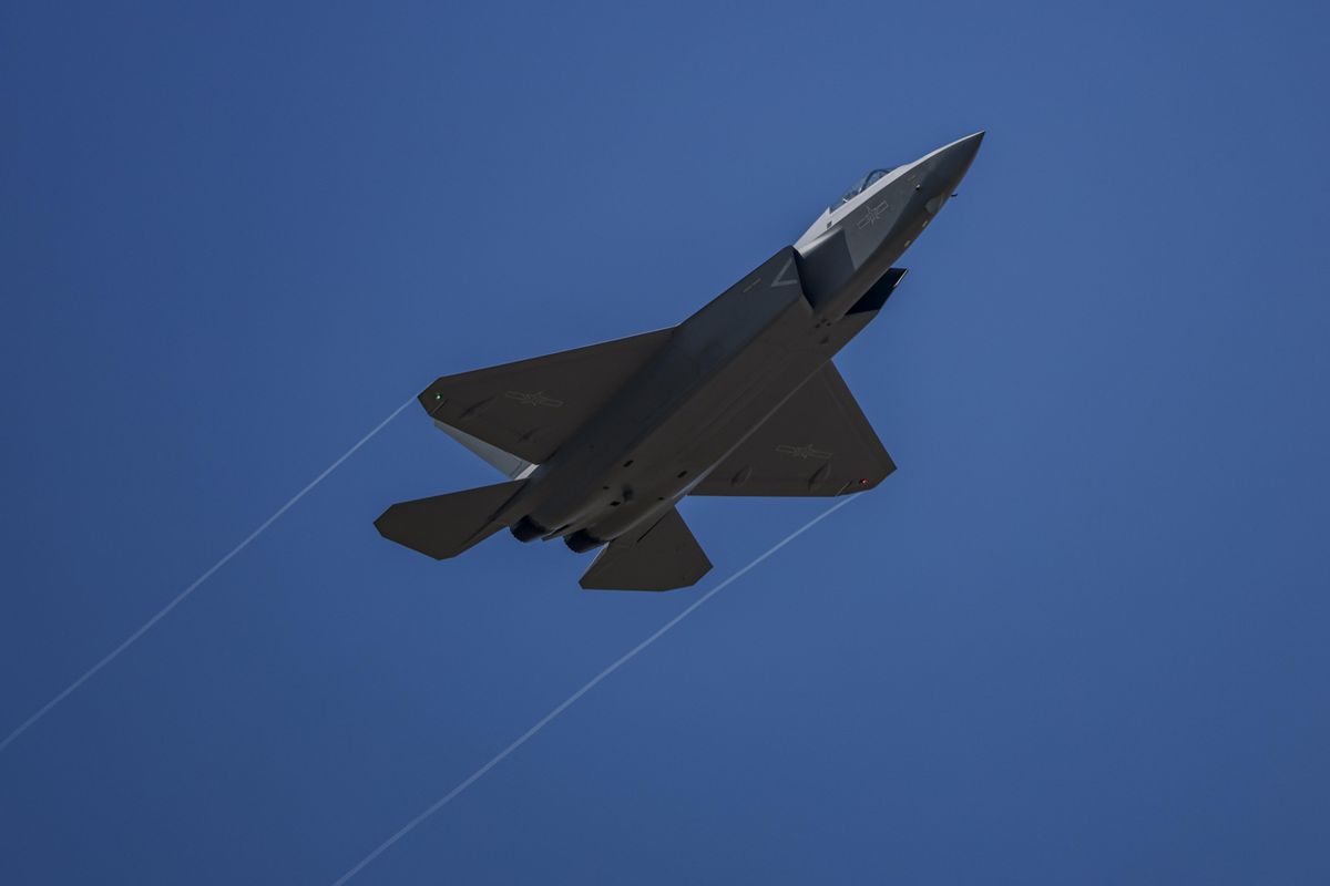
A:
<svg viewBox="0 0 1330 886">
<path fill-rule="evenodd" d="M 841 495 L 895 470 L 835 364 L 827 361 L 693 495 Z"/>
</svg>

